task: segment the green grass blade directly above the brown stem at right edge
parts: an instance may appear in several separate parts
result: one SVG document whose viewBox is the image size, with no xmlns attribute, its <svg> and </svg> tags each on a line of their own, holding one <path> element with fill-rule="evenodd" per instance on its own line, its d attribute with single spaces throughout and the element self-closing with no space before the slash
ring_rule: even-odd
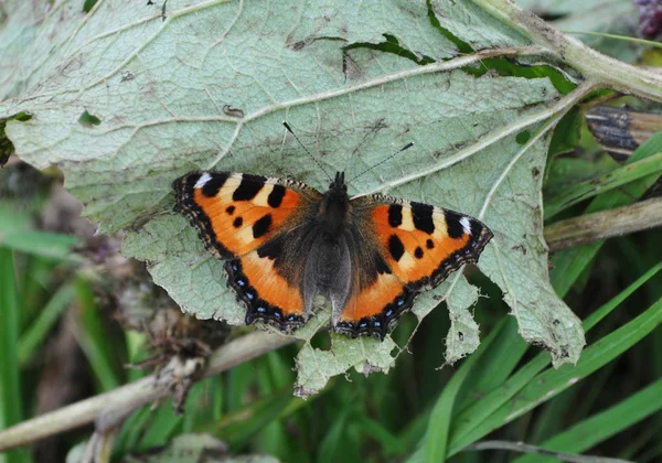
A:
<svg viewBox="0 0 662 463">
<path fill-rule="evenodd" d="M 580 182 L 545 202 L 545 219 L 566 208 L 644 176 L 662 173 L 662 152 L 626 164 L 607 174 Z"/>
</svg>

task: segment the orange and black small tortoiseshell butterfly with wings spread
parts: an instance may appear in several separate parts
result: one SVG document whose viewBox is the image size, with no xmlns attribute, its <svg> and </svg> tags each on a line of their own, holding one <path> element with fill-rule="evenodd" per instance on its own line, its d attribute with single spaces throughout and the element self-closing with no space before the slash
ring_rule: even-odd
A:
<svg viewBox="0 0 662 463">
<path fill-rule="evenodd" d="M 318 293 L 337 332 L 384 338 L 423 290 L 477 262 L 492 232 L 473 217 L 373 194 L 350 198 L 344 173 L 325 193 L 291 180 L 192 172 L 173 183 L 175 211 L 225 263 L 246 323 L 289 332 Z"/>
</svg>

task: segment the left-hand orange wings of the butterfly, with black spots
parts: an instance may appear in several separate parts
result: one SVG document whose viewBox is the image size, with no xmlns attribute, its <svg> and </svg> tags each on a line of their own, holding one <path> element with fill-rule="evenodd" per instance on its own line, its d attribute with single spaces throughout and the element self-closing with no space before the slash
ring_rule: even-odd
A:
<svg viewBox="0 0 662 463">
<path fill-rule="evenodd" d="M 305 220 L 321 194 L 293 181 L 231 172 L 193 172 L 174 181 L 175 209 L 225 263 L 228 286 L 246 304 L 246 323 L 282 330 L 303 323 L 297 277 L 279 265 L 279 236 Z"/>
</svg>

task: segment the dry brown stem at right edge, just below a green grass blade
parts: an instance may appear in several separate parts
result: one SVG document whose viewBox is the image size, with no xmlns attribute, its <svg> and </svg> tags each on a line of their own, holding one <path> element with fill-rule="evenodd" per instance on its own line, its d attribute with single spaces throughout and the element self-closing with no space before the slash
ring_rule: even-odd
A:
<svg viewBox="0 0 662 463">
<path fill-rule="evenodd" d="M 556 251 L 659 226 L 662 197 L 557 222 L 545 227 L 545 240 Z"/>
</svg>

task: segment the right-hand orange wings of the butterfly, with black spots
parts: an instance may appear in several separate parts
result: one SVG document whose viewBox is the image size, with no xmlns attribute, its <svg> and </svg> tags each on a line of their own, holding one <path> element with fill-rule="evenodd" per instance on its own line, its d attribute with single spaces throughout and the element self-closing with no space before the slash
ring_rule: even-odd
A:
<svg viewBox="0 0 662 463">
<path fill-rule="evenodd" d="M 382 195 L 351 204 L 357 229 L 369 237 L 362 246 L 374 248 L 359 254 L 352 297 L 334 314 L 337 331 L 351 335 L 384 337 L 421 290 L 477 262 L 493 236 L 473 217 L 427 204 Z"/>
</svg>

